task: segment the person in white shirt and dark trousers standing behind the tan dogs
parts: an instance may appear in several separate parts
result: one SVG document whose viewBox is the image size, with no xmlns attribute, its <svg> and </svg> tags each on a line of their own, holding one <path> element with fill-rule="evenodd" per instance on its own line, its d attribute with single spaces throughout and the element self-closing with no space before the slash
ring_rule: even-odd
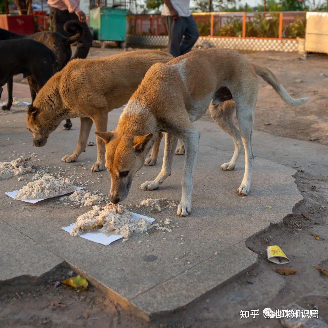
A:
<svg viewBox="0 0 328 328">
<path fill-rule="evenodd" d="M 199 37 L 190 0 L 164 0 L 162 15 L 169 33 L 168 52 L 174 57 L 189 52 Z"/>
</svg>

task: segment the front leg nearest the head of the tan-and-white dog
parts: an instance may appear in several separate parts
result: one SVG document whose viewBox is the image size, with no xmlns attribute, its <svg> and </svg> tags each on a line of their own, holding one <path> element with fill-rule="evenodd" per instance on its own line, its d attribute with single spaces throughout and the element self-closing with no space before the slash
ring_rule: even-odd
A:
<svg viewBox="0 0 328 328">
<path fill-rule="evenodd" d="M 172 161 L 174 156 L 174 149 L 177 138 L 171 134 L 165 134 L 165 148 L 164 158 L 161 172 L 157 175 L 155 180 L 144 182 L 140 188 L 142 190 L 157 190 L 159 185 L 171 174 Z"/>
</svg>

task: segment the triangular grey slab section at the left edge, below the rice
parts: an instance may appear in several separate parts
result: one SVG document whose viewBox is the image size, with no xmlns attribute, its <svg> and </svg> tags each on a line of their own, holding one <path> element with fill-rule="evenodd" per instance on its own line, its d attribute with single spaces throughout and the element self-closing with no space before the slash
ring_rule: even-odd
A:
<svg viewBox="0 0 328 328">
<path fill-rule="evenodd" d="M 37 279 L 54 266 L 63 262 L 61 258 L 0 220 L 0 240 L 5 250 L 0 252 L 0 282 L 14 278 Z"/>
</svg>

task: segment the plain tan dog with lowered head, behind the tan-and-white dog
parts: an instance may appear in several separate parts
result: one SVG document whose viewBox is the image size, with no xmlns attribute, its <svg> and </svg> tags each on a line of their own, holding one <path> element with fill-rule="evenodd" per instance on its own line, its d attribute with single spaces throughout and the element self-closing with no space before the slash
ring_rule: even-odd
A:
<svg viewBox="0 0 328 328">
<path fill-rule="evenodd" d="M 72 60 L 50 78 L 28 110 L 27 128 L 33 134 L 33 145 L 44 146 L 49 134 L 62 120 L 80 117 L 76 149 L 73 154 L 62 158 L 63 162 L 75 162 L 86 148 L 92 122 L 96 131 L 105 132 L 108 112 L 128 102 L 154 63 L 166 63 L 172 58 L 164 51 L 144 50 L 94 60 Z M 156 163 L 159 142 L 147 158 L 146 165 Z M 92 172 L 101 171 L 105 166 L 105 145 L 99 137 L 97 150 Z"/>
</svg>

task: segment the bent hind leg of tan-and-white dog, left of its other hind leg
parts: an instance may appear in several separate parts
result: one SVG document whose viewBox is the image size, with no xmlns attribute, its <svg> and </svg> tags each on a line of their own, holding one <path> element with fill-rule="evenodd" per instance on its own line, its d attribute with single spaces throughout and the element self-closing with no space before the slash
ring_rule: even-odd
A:
<svg viewBox="0 0 328 328">
<path fill-rule="evenodd" d="M 222 170 L 233 170 L 236 165 L 236 161 L 239 157 L 241 148 L 241 138 L 239 130 L 233 122 L 232 115 L 235 111 L 235 102 L 233 100 L 224 101 L 218 105 L 210 104 L 211 116 L 215 123 L 226 133 L 230 134 L 234 144 L 235 151 L 228 163 L 223 163 L 221 165 Z"/>
</svg>

